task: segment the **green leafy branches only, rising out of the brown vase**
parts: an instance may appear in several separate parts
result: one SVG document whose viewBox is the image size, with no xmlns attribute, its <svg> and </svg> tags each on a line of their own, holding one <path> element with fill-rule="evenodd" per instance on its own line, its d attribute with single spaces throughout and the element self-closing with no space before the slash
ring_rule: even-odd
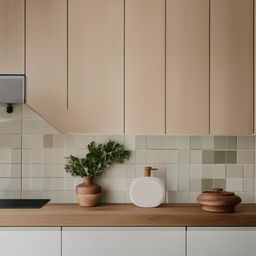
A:
<svg viewBox="0 0 256 256">
<path fill-rule="evenodd" d="M 72 176 L 96 177 L 114 163 L 123 163 L 125 159 L 130 157 L 130 151 L 126 150 L 123 145 L 111 140 L 98 146 L 93 141 L 88 145 L 88 151 L 84 158 L 72 155 L 67 157 L 66 172 Z"/>
</svg>

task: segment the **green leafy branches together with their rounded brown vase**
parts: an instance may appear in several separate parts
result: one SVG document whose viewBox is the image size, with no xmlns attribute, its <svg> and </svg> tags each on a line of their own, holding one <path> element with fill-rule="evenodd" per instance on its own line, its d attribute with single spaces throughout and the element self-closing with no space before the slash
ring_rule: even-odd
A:
<svg viewBox="0 0 256 256">
<path fill-rule="evenodd" d="M 130 152 L 124 146 L 109 141 L 106 144 L 91 142 L 88 145 L 88 153 L 84 158 L 70 155 L 67 157 L 65 169 L 72 176 L 84 178 L 84 183 L 76 186 L 77 199 L 80 206 L 96 206 L 100 202 L 101 187 L 93 182 L 93 178 L 100 176 L 114 163 L 123 163 L 129 159 Z"/>
</svg>

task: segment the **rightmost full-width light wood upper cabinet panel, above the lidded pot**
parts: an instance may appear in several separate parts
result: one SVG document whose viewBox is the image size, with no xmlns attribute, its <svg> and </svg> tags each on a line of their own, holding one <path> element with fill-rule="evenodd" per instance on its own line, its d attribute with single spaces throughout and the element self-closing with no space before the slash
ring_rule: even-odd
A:
<svg viewBox="0 0 256 256">
<path fill-rule="evenodd" d="M 210 131 L 253 133 L 253 0 L 211 1 Z"/>
</svg>

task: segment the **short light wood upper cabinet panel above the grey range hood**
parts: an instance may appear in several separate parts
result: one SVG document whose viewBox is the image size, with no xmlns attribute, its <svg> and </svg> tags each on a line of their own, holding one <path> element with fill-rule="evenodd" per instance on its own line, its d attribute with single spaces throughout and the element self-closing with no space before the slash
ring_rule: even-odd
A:
<svg viewBox="0 0 256 256">
<path fill-rule="evenodd" d="M 0 0 L 0 74 L 24 74 L 24 0 Z"/>
</svg>

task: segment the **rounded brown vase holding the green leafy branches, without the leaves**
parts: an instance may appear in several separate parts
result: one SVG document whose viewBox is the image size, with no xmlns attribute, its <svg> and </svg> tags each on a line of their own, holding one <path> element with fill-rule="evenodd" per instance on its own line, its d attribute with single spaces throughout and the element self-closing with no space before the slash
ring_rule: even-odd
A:
<svg viewBox="0 0 256 256">
<path fill-rule="evenodd" d="M 93 177 L 84 177 L 84 183 L 76 186 L 80 206 L 93 207 L 100 203 L 101 187 L 93 183 Z"/>
</svg>

